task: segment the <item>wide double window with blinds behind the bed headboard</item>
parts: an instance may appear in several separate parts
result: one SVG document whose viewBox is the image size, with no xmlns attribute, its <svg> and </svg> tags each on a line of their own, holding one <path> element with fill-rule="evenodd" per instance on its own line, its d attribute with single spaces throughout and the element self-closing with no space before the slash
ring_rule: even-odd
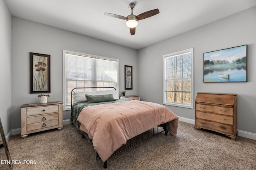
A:
<svg viewBox="0 0 256 170">
<path fill-rule="evenodd" d="M 114 87 L 118 92 L 118 59 L 63 50 L 64 110 L 70 109 L 76 87 Z"/>
</svg>

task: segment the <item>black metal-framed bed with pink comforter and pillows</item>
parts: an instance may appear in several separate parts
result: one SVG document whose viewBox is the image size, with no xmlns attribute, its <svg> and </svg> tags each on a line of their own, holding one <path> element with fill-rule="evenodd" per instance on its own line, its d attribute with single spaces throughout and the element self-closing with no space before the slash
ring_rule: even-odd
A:
<svg viewBox="0 0 256 170">
<path fill-rule="evenodd" d="M 71 122 L 93 143 L 96 160 L 101 159 L 104 168 L 110 156 L 156 134 L 177 134 L 178 117 L 170 109 L 151 102 L 120 100 L 112 87 L 74 88 L 71 103 Z"/>
</svg>

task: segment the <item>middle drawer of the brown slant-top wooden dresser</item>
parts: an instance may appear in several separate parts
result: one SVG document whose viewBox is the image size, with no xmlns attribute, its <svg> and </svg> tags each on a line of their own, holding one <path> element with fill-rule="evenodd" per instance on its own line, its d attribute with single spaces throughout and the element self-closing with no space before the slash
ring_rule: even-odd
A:
<svg viewBox="0 0 256 170">
<path fill-rule="evenodd" d="M 196 111 L 196 118 L 233 125 L 233 117 Z"/>
</svg>

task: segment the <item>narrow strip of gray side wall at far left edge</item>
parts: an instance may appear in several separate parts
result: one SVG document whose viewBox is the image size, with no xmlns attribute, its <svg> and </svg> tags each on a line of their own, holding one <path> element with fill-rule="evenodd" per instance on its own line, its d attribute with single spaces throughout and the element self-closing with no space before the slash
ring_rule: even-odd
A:
<svg viewBox="0 0 256 170">
<path fill-rule="evenodd" d="M 4 2 L 0 0 L 0 117 L 7 135 L 11 130 L 11 15 Z"/>
</svg>

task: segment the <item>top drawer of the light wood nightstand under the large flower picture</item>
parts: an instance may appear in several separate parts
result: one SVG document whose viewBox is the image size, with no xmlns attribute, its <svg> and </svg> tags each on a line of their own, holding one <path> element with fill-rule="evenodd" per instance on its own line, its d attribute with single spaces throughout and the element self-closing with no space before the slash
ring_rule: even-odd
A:
<svg viewBox="0 0 256 170">
<path fill-rule="evenodd" d="M 27 108 L 27 116 L 41 115 L 46 113 L 56 113 L 59 111 L 59 107 L 55 106 L 44 106 L 44 107 L 30 107 Z"/>
</svg>

